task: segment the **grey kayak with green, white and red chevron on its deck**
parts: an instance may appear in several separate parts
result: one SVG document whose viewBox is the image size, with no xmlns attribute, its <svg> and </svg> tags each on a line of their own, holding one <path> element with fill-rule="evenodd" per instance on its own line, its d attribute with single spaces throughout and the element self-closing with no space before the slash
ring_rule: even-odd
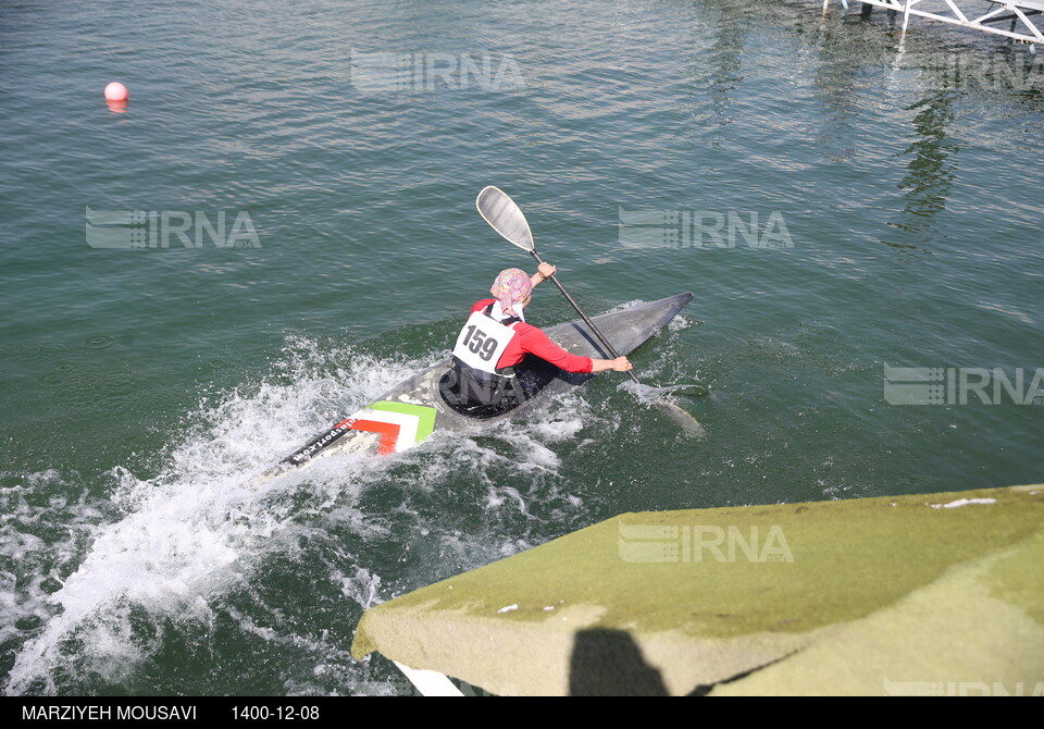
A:
<svg viewBox="0 0 1044 729">
<path fill-rule="evenodd" d="M 692 292 L 658 301 L 593 317 L 595 326 L 625 356 L 637 349 L 667 325 L 692 300 Z M 545 334 L 562 349 L 573 354 L 609 359 L 605 347 L 582 320 L 548 326 Z M 423 443 L 437 431 L 470 431 L 476 424 L 497 422 L 548 403 L 555 395 L 582 386 L 591 373 L 566 372 L 533 356 L 519 366 L 529 381 L 537 383 L 525 399 L 505 412 L 474 418 L 453 410 L 439 393 L 439 382 L 449 371 L 449 360 L 434 364 L 382 395 L 361 410 L 334 423 L 279 465 L 278 470 L 297 468 L 338 450 L 369 452 L 380 456 L 402 453 Z"/>
</svg>

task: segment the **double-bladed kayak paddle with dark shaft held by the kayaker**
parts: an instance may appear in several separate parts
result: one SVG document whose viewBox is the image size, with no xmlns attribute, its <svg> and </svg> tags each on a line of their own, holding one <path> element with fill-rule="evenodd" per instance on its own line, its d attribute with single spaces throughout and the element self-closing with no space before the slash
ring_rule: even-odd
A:
<svg viewBox="0 0 1044 729">
<path fill-rule="evenodd" d="M 475 207 L 478 208 L 478 214 L 482 215 L 482 219 L 485 220 L 489 225 L 499 233 L 509 243 L 518 246 L 522 250 L 526 251 L 536 259 L 537 264 L 543 263 L 544 260 L 540 258 L 540 255 L 536 252 L 536 243 L 533 240 L 533 233 L 530 231 L 530 224 L 525 220 L 525 215 L 522 214 L 522 209 L 515 205 L 508 195 L 493 185 L 484 187 L 478 197 L 475 199 Z M 566 287 L 562 286 L 559 282 L 558 276 L 552 275 L 551 282 L 558 287 L 558 291 L 562 293 L 562 296 L 566 297 L 566 300 L 576 309 L 576 313 L 580 314 L 581 319 L 584 320 L 584 323 L 587 324 L 588 329 L 594 333 L 598 341 L 601 342 L 601 345 L 606 348 L 606 351 L 609 353 L 609 356 L 612 359 L 616 359 L 620 355 L 617 354 L 617 350 L 613 348 L 612 344 L 609 343 L 609 339 L 602 335 L 602 333 L 595 326 L 595 323 L 591 321 L 583 309 L 580 308 L 580 305 L 569 295 L 569 292 L 566 291 Z M 631 380 L 634 381 L 634 384 L 637 388 L 638 397 L 643 400 L 654 400 L 656 396 L 663 392 L 676 392 L 687 387 L 698 387 L 695 385 L 674 385 L 673 387 L 650 387 L 648 385 L 643 385 L 642 381 L 638 380 L 638 376 L 632 370 L 627 370 L 627 374 L 631 375 Z M 706 391 L 704 391 L 706 392 Z M 703 435 L 704 429 L 699 422 L 693 418 L 692 415 L 678 407 L 673 403 L 664 403 L 663 400 L 656 400 L 658 404 L 667 405 L 672 409 L 675 416 L 682 419 L 682 425 L 686 432 L 697 435 Z M 691 422 L 689 422 L 691 421 Z"/>
</svg>

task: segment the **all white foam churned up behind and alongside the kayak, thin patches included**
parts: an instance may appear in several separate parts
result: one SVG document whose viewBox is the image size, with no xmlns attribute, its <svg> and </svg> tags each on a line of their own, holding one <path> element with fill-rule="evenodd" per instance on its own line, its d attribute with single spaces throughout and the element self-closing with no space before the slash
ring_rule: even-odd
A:
<svg viewBox="0 0 1044 729">
<path fill-rule="evenodd" d="M 18 646 L 5 692 L 61 693 L 70 682 L 90 677 L 102 684 L 124 681 L 162 650 L 171 626 L 208 633 L 219 614 L 249 640 L 276 650 L 294 646 L 314 657 L 319 672 L 287 676 L 288 691 L 325 691 L 335 679 L 349 687 L 384 685 L 369 666 L 351 668 L 347 644 L 281 626 L 281 609 L 289 608 L 261 595 L 250 584 L 252 574 L 268 563 L 293 557 L 297 540 L 333 543 L 332 535 L 340 533 L 363 545 L 398 541 L 407 548 L 414 535 L 423 543 L 426 533 L 434 553 L 456 554 L 457 564 L 475 566 L 531 545 L 524 534 L 505 539 L 497 528 L 501 519 L 539 520 L 531 512 L 534 504 L 555 511 L 582 508 L 581 499 L 563 494 L 558 484 L 547 485 L 561 461 L 549 446 L 575 438 L 589 417 L 576 394 L 523 423 L 437 436 L 401 457 L 337 454 L 283 478 L 258 478 L 331 422 L 443 355 L 387 361 L 293 339 L 259 385 L 203 401 L 189 413 L 184 434 L 163 454 L 158 472 L 114 467 L 105 483 L 110 499 L 70 503 L 76 489 L 55 472 L 16 479 L 2 492 L 8 506 L 0 555 L 2 637 L 9 655 Z M 446 487 L 462 467 L 484 484 L 484 498 Z M 399 478 L 395 469 L 409 469 L 410 478 Z M 374 485 L 401 490 L 398 515 L 359 505 Z M 47 489 L 61 496 L 33 506 Z M 461 508 L 414 503 L 424 492 L 459 499 Z M 469 533 L 444 520 L 446 512 L 469 507 L 492 515 L 490 526 Z M 395 518 L 406 528 L 389 521 Z M 37 536 L 26 528 L 48 519 L 67 536 Z M 362 548 L 327 552 L 321 582 L 360 610 L 384 598 L 384 576 L 377 569 L 387 569 L 386 561 L 366 564 Z M 36 567 L 18 572 L 11 568 L 17 564 Z M 410 574 L 391 577 L 400 584 L 418 581 Z M 228 604 L 226 596 L 233 593 L 254 601 L 273 623 L 261 625 L 252 610 Z"/>
</svg>

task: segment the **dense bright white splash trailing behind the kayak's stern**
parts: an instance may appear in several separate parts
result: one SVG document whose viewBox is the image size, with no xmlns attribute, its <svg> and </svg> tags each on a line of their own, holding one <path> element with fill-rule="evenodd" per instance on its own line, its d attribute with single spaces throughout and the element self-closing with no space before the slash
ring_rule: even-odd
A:
<svg viewBox="0 0 1044 729">
<path fill-rule="evenodd" d="M 348 455 L 323 459 L 337 460 L 336 469 L 324 464 L 268 482 L 257 477 L 338 415 L 427 362 L 380 362 L 350 350 L 323 356 L 304 341 L 290 346 L 298 351 L 279 368 L 290 384 L 264 383 L 252 394 L 201 405 L 158 475 L 112 471 L 113 502 L 124 516 L 92 526 L 78 568 L 23 608 L 40 613 L 46 602 L 48 618 L 15 657 L 7 693 L 54 692 L 52 675 L 67 663 L 64 644 L 73 639 L 84 646 L 78 657 L 87 670 L 120 680 L 159 640 L 132 629 L 135 610 L 206 621 L 209 600 L 243 580 L 302 508 L 321 509 L 361 487 L 364 465 Z M 301 490 L 312 497 L 303 507 Z M 18 547 L 4 551 L 16 557 Z M 7 602 L 20 602 L 5 594 Z"/>
</svg>

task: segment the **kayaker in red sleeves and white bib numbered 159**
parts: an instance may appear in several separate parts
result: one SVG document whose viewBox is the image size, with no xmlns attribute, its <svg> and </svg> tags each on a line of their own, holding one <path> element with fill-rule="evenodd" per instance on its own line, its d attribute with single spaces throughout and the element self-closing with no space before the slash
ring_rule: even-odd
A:
<svg viewBox="0 0 1044 729">
<path fill-rule="evenodd" d="M 453 347 L 450 371 L 439 382 L 443 398 L 455 410 L 488 418 L 520 405 L 559 370 L 626 372 L 633 367 L 626 357 L 571 355 L 538 328 L 525 323 L 524 311 L 533 288 L 555 272 L 556 268 L 546 262 L 532 276 L 521 269 L 501 271 L 489 289 L 494 298 L 482 299 L 471 308 Z M 534 358 L 540 361 L 534 362 Z M 523 360 L 525 366 L 520 369 Z"/>
</svg>

